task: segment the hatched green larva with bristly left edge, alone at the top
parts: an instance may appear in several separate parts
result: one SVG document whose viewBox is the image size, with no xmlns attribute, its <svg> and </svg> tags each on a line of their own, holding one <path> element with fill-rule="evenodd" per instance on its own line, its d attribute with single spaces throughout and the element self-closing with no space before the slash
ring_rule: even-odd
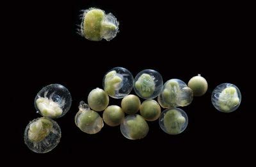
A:
<svg viewBox="0 0 256 167">
<path fill-rule="evenodd" d="M 106 14 L 104 10 L 90 8 L 83 11 L 79 33 L 84 38 L 100 41 L 102 38 L 109 41 L 118 33 L 119 22 L 112 13 Z"/>
</svg>

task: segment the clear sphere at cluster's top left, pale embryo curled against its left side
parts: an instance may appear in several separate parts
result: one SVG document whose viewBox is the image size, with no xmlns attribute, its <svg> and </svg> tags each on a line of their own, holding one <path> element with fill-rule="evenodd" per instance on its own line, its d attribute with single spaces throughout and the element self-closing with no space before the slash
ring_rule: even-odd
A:
<svg viewBox="0 0 256 167">
<path fill-rule="evenodd" d="M 110 97 L 122 99 L 132 91 L 133 81 L 133 76 L 129 70 L 115 67 L 104 76 L 103 88 Z"/>
</svg>

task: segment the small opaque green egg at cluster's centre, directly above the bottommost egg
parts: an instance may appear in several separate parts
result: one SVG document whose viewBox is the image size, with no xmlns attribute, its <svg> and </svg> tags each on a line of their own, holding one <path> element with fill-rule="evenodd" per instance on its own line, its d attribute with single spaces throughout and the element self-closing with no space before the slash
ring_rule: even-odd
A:
<svg viewBox="0 0 256 167">
<path fill-rule="evenodd" d="M 127 95 L 122 99 L 121 107 L 124 113 L 134 115 L 140 109 L 140 98 L 136 95 Z"/>
</svg>

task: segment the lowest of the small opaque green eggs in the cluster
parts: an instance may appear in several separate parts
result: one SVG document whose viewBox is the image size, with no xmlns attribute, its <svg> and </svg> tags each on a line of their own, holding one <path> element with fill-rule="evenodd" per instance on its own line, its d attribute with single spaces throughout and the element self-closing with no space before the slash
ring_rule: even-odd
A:
<svg viewBox="0 0 256 167">
<path fill-rule="evenodd" d="M 107 125 L 115 127 L 124 120 L 124 112 L 119 106 L 108 106 L 103 112 L 103 120 Z"/>
</svg>

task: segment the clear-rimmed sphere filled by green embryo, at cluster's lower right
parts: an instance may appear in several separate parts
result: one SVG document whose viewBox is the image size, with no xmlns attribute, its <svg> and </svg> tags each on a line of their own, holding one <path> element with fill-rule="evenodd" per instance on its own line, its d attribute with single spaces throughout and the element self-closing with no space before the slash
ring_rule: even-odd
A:
<svg viewBox="0 0 256 167">
<path fill-rule="evenodd" d="M 159 117 L 159 125 L 168 134 L 180 134 L 188 126 L 188 116 L 177 107 L 165 109 Z"/>
</svg>

